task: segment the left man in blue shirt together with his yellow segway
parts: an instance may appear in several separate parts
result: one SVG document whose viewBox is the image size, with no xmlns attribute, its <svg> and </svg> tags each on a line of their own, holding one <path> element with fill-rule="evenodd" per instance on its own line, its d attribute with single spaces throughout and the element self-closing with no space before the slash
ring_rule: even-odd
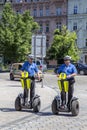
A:
<svg viewBox="0 0 87 130">
<path fill-rule="evenodd" d="M 38 68 L 33 63 L 33 57 L 28 56 L 28 61 L 23 64 L 21 69 L 21 84 L 24 89 L 23 94 L 20 93 L 15 100 L 15 109 L 20 111 L 22 108 L 33 109 L 34 112 L 39 112 L 41 107 L 41 101 L 38 95 L 35 95 L 35 72 L 38 75 Z M 30 99 L 29 99 L 30 90 Z"/>
</svg>

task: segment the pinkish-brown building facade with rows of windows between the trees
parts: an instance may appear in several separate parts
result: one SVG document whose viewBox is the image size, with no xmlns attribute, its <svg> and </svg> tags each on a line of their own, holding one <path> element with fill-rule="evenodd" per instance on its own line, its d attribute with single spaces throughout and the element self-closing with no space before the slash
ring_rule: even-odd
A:
<svg viewBox="0 0 87 130">
<path fill-rule="evenodd" d="M 67 0 L 11 0 L 17 13 L 30 10 L 30 14 L 39 23 L 38 33 L 46 34 L 46 46 L 51 45 L 53 32 L 67 24 Z"/>
</svg>

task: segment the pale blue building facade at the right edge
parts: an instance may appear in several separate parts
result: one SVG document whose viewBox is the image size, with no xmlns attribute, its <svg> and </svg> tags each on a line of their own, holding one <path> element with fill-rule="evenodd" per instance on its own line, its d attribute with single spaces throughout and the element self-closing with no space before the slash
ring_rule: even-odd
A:
<svg viewBox="0 0 87 130">
<path fill-rule="evenodd" d="M 68 0 L 68 29 L 76 31 L 80 62 L 87 64 L 87 0 Z"/>
</svg>

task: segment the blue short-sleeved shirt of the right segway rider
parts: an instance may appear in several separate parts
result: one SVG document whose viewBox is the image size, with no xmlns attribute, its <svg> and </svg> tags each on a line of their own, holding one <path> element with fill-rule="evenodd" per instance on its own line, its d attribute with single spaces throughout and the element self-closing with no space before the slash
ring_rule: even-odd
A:
<svg viewBox="0 0 87 130">
<path fill-rule="evenodd" d="M 73 73 L 77 74 L 76 67 L 71 63 L 68 66 L 66 64 L 62 64 L 57 72 L 58 74 L 66 73 L 67 76 Z"/>
</svg>

